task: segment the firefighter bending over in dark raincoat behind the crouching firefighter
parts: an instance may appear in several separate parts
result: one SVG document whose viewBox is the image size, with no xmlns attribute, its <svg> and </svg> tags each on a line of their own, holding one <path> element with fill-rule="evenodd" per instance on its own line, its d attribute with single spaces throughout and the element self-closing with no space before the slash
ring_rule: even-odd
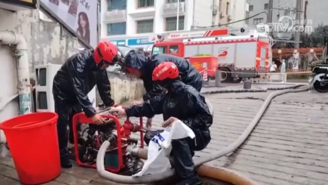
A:
<svg viewBox="0 0 328 185">
<path fill-rule="evenodd" d="M 147 101 L 162 93 L 162 89 L 152 81 L 152 73 L 155 67 L 163 62 L 173 62 L 179 70 L 181 81 L 185 84 L 193 86 L 200 91 L 202 87 L 202 77 L 200 73 L 183 58 L 175 57 L 169 54 L 156 54 L 151 57 L 146 57 L 143 52 L 130 51 L 125 58 L 125 70 L 127 73 L 141 78 L 144 81 L 146 94 L 142 97 Z M 142 101 L 133 102 L 132 104 L 139 104 Z M 147 120 L 147 127 L 151 126 L 151 118 Z"/>
</svg>

